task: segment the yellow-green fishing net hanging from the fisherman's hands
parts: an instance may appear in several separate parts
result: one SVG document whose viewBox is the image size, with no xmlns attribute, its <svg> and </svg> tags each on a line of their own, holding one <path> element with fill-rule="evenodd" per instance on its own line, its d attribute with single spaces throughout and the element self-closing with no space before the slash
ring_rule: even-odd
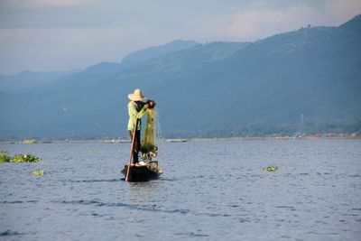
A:
<svg viewBox="0 0 361 241">
<path fill-rule="evenodd" d="M 143 160 L 151 161 L 157 156 L 158 147 L 155 144 L 155 109 L 148 108 L 146 112 L 146 124 L 141 145 Z"/>
</svg>

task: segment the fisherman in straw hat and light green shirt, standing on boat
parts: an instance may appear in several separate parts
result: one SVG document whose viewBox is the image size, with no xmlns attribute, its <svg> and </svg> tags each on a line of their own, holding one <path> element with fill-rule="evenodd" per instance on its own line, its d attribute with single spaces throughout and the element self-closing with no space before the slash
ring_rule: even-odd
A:
<svg viewBox="0 0 361 241">
<path fill-rule="evenodd" d="M 138 119 L 138 125 L 134 134 L 134 152 L 133 152 L 133 164 L 134 166 L 143 166 L 146 165 L 145 162 L 139 162 L 139 151 L 141 149 L 141 129 L 142 129 L 142 117 L 146 113 L 146 109 L 149 107 L 154 107 L 155 103 L 153 101 L 143 102 L 143 94 L 139 88 L 134 90 L 134 93 L 129 94 L 128 98 L 130 99 L 128 103 L 128 131 L 133 139 L 134 125 Z"/>
</svg>

